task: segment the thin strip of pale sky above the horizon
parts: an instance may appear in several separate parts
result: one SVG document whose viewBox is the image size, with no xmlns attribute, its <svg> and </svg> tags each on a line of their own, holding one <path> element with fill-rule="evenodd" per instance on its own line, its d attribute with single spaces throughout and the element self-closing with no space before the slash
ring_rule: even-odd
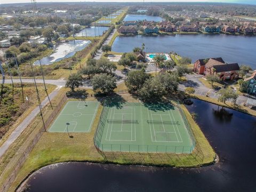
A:
<svg viewBox="0 0 256 192">
<path fill-rule="evenodd" d="M 30 0 L 0 0 L 1 3 L 29 3 Z M 143 2 L 143 0 L 37 0 L 41 2 Z M 145 2 L 222 2 L 222 3 L 244 3 L 255 4 L 256 0 L 145 0 Z"/>
</svg>

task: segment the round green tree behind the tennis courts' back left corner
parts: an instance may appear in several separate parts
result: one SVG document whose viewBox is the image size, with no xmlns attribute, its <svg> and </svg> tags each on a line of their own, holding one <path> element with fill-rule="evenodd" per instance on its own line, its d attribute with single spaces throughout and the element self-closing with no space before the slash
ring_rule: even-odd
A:
<svg viewBox="0 0 256 192">
<path fill-rule="evenodd" d="M 116 89 L 116 78 L 107 74 L 95 75 L 92 78 L 92 86 L 94 92 L 108 94 Z"/>
</svg>

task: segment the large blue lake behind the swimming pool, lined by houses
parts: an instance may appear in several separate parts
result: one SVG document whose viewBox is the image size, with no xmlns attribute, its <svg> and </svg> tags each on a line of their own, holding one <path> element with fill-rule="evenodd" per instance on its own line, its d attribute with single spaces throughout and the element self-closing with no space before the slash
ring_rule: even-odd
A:
<svg viewBox="0 0 256 192">
<path fill-rule="evenodd" d="M 117 37 L 112 51 L 130 52 L 145 43 L 148 52 L 174 51 L 192 61 L 222 57 L 226 62 L 237 62 L 256 68 L 256 36 L 235 35 L 173 35 Z"/>
</svg>

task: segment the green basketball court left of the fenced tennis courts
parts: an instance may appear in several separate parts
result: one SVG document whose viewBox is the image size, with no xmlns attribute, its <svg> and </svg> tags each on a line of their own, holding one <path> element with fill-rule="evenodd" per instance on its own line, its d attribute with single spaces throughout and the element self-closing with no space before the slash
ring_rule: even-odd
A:
<svg viewBox="0 0 256 192">
<path fill-rule="evenodd" d="M 49 132 L 90 132 L 99 102 L 68 101 Z"/>
</svg>

